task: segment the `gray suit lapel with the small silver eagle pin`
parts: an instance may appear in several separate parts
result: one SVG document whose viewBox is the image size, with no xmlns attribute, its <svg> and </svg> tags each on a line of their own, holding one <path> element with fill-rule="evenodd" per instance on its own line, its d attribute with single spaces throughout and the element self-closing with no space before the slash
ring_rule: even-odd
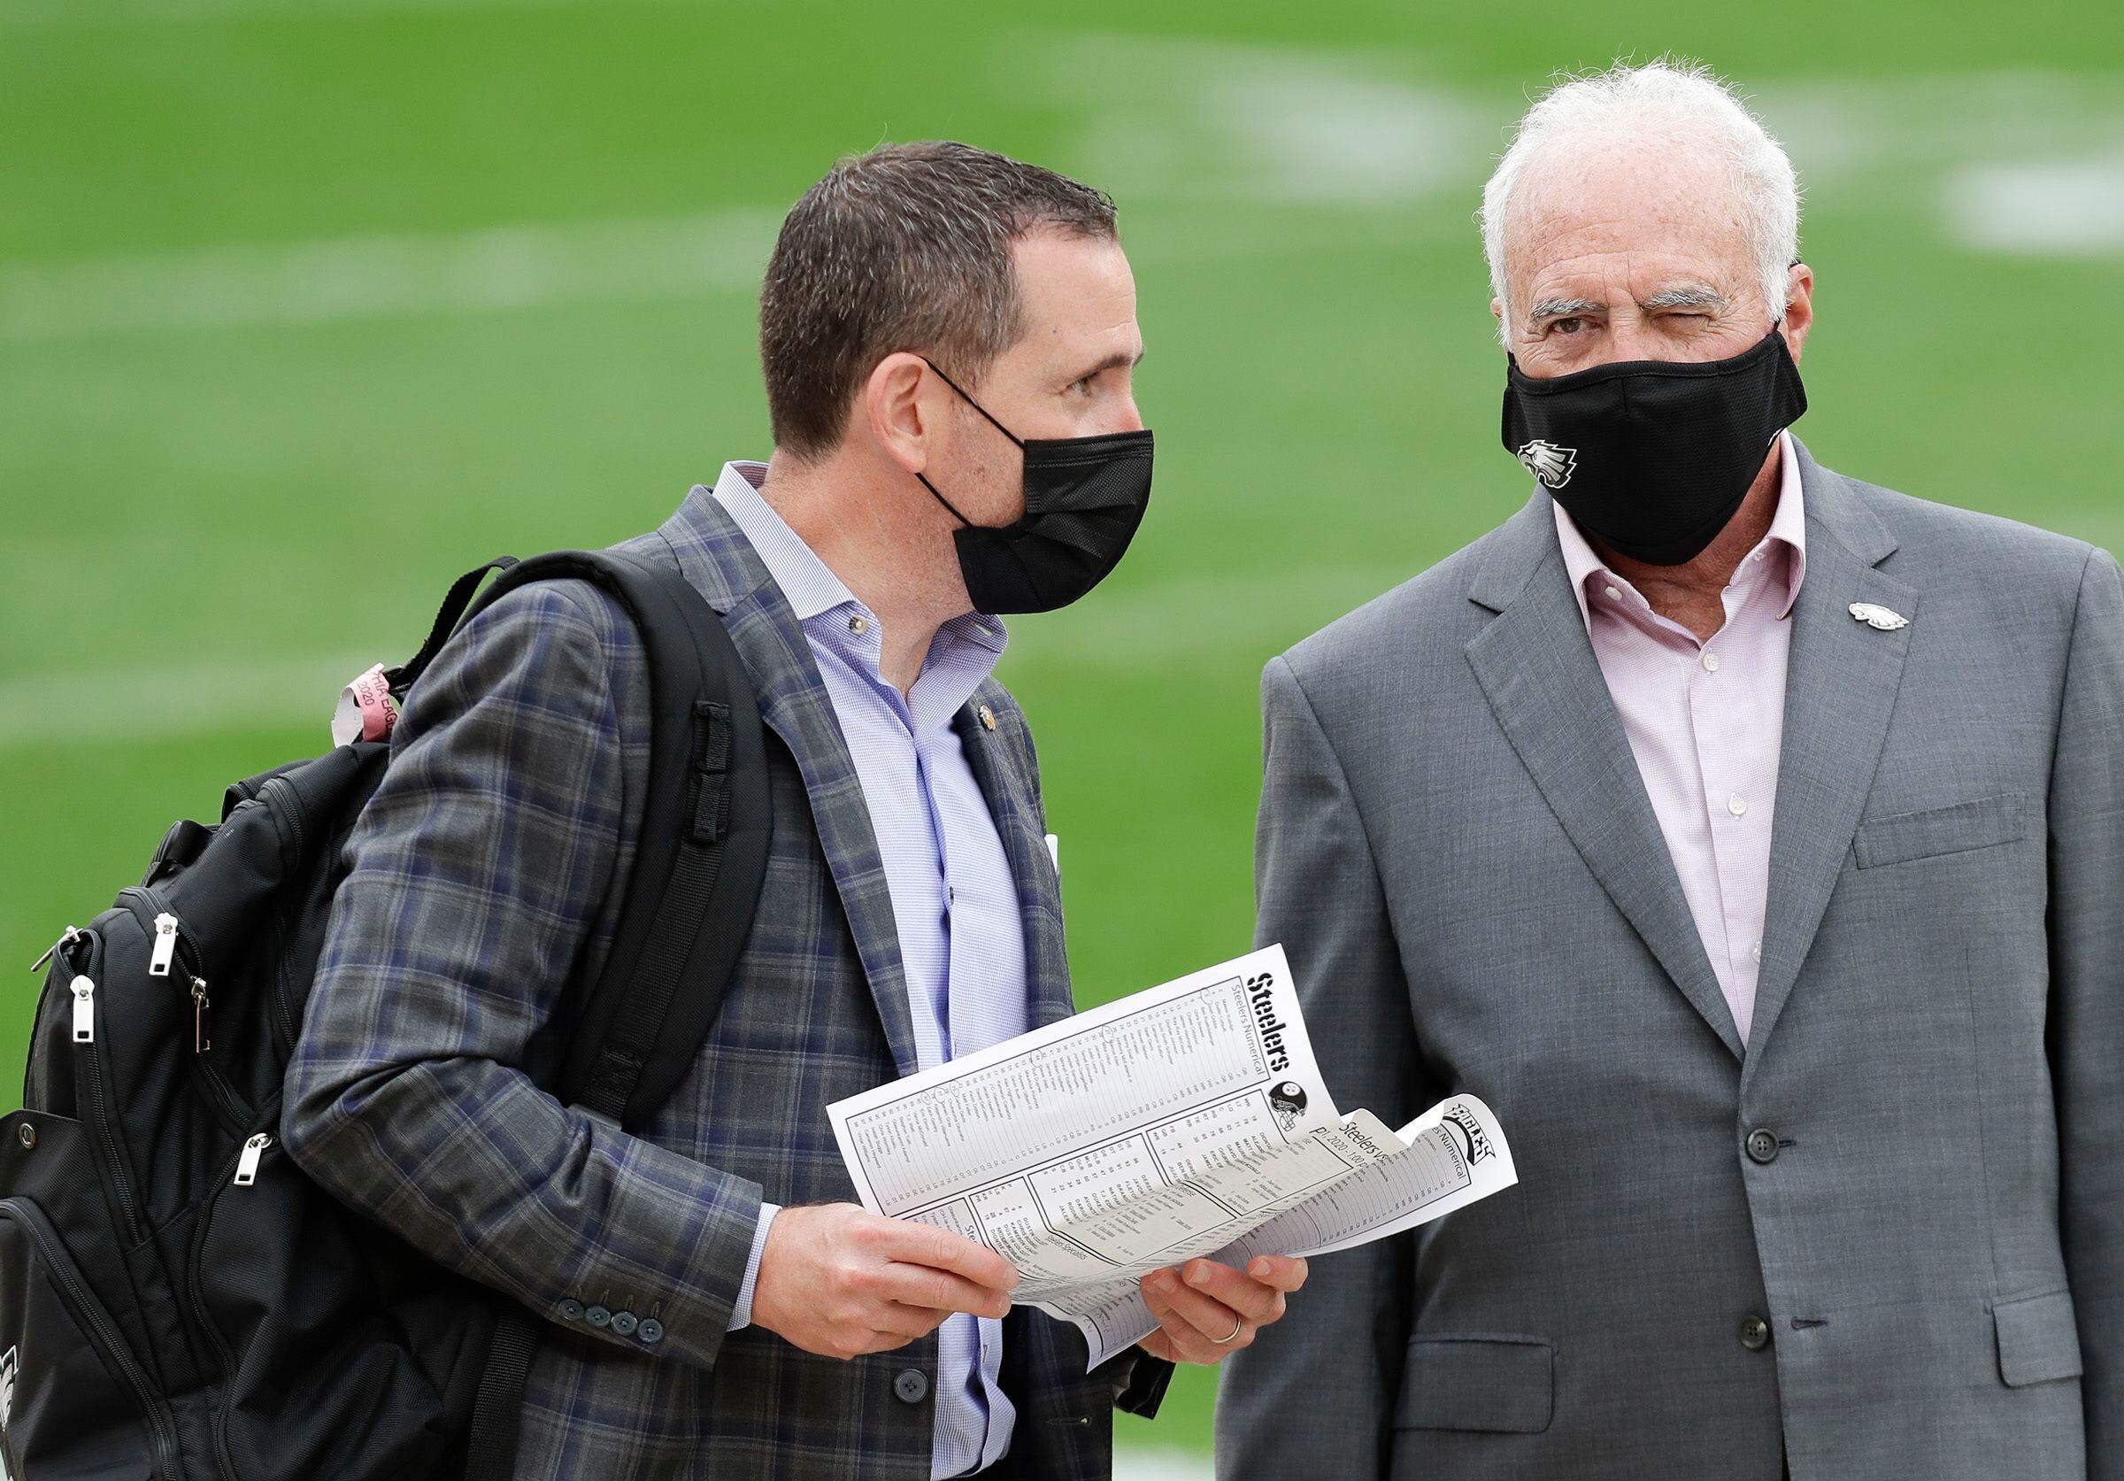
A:
<svg viewBox="0 0 2124 1481">
<path fill-rule="evenodd" d="M 1875 569 L 1895 540 L 1861 491 L 1822 470 L 1805 448 L 1799 474 L 1808 499 L 1808 574 L 1793 608 L 1750 1060 L 1761 1058 L 1844 871 L 1909 652 L 1909 627 L 1878 631 L 1852 618 L 1850 606 L 1873 601 L 1907 618 L 1918 612 L 1916 589 Z"/>
</svg>

